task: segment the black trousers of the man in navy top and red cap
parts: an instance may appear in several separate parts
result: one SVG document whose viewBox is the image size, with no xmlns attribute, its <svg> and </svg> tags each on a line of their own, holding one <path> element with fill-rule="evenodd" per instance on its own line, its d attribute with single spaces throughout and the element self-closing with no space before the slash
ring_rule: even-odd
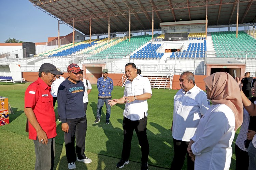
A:
<svg viewBox="0 0 256 170">
<path fill-rule="evenodd" d="M 64 132 L 64 139 L 68 163 L 72 163 L 76 160 L 76 154 L 79 159 L 86 158 L 84 152 L 87 119 L 86 116 L 76 119 L 67 119 L 67 123 L 69 125 L 69 133 Z"/>
</svg>

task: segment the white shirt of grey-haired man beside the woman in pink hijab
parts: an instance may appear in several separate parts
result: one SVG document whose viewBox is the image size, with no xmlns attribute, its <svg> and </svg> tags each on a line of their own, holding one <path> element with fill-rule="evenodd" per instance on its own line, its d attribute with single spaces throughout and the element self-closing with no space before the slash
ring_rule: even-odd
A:
<svg viewBox="0 0 256 170">
<path fill-rule="evenodd" d="M 180 89 L 174 96 L 172 137 L 190 141 L 194 136 L 200 118 L 210 108 L 210 101 L 203 90 L 196 85 L 185 93 Z"/>
</svg>

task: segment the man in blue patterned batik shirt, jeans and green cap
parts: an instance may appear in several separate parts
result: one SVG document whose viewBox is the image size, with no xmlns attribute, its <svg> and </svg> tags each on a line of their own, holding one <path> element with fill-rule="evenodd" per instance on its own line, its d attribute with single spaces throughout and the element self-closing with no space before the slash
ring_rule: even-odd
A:
<svg viewBox="0 0 256 170">
<path fill-rule="evenodd" d="M 111 92 L 113 90 L 113 80 L 108 77 L 109 70 L 103 69 L 102 75 L 103 77 L 99 78 L 97 81 L 97 88 L 99 90 L 98 96 L 98 104 L 97 104 L 97 118 L 94 123 L 100 122 L 101 117 L 101 109 L 105 103 L 106 105 L 106 124 L 109 124 L 110 118 L 110 105 L 108 104 L 108 100 L 112 98 Z"/>
</svg>

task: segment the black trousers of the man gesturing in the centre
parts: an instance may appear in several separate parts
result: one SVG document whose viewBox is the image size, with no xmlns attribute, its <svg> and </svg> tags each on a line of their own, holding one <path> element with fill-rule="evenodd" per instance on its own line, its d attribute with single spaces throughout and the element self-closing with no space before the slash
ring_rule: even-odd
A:
<svg viewBox="0 0 256 170">
<path fill-rule="evenodd" d="M 149 154 L 149 145 L 147 140 L 147 117 L 132 121 L 124 117 L 124 142 L 122 150 L 122 159 L 128 160 L 131 152 L 131 139 L 135 130 L 141 146 L 141 163 L 147 163 Z"/>
</svg>

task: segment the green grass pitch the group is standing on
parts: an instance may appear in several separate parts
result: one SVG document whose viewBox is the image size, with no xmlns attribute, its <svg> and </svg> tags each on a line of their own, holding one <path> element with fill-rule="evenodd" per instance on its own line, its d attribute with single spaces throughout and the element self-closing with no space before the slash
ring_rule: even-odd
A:
<svg viewBox="0 0 256 170">
<path fill-rule="evenodd" d="M 25 132 L 26 115 L 24 109 L 24 93 L 30 83 L 0 83 L 0 96 L 8 97 L 14 114 L 10 114 L 10 124 L 0 126 L 0 157 L 4 163 L 0 169 L 34 169 L 35 155 L 33 141 Z M 101 122 L 94 124 L 97 112 L 98 90 L 93 85 L 89 94 L 87 109 L 88 129 L 86 134 L 86 156 L 93 160 L 90 164 L 76 162 L 77 169 L 117 169 L 123 146 L 123 110 L 125 105 L 117 104 L 111 108 L 110 124 L 105 124 L 106 107 L 102 108 Z M 115 86 L 113 98 L 123 96 L 124 88 Z M 147 136 L 150 144 L 149 169 L 169 169 L 172 158 L 171 123 L 173 115 L 173 97 L 177 90 L 152 89 L 153 96 L 148 100 Z M 57 106 L 55 106 L 57 113 Z M 56 114 L 57 115 L 57 114 Z M 56 116 L 57 118 L 57 116 Z M 238 132 L 237 132 L 238 133 Z M 68 169 L 64 134 L 57 121 L 55 169 Z M 235 139 L 237 134 L 235 136 Z M 234 140 L 235 140 L 234 139 Z M 140 169 L 141 149 L 136 133 L 131 144 L 130 163 L 123 169 Z M 230 169 L 235 169 L 234 142 Z M 186 168 L 186 162 L 183 169 Z"/>
</svg>

